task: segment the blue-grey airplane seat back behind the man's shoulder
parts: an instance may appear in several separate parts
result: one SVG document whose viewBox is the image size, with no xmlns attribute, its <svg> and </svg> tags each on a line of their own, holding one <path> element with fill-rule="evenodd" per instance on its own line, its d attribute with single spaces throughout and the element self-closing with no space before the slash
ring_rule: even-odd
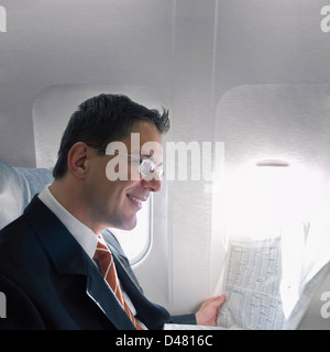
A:
<svg viewBox="0 0 330 352">
<path fill-rule="evenodd" d="M 21 216 L 33 196 L 52 180 L 50 169 L 14 167 L 0 160 L 0 230 Z"/>
</svg>

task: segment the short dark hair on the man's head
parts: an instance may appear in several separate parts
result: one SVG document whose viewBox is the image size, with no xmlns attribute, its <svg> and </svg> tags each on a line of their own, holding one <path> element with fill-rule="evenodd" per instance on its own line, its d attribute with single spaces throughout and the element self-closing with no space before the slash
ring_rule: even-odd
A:
<svg viewBox="0 0 330 352">
<path fill-rule="evenodd" d="M 147 109 L 123 95 L 99 95 L 80 103 L 73 113 L 62 136 L 58 158 L 53 169 L 54 178 L 67 172 L 67 155 L 77 142 L 107 146 L 125 138 L 134 122 L 151 121 L 160 133 L 169 129 L 168 110 Z"/>
</svg>

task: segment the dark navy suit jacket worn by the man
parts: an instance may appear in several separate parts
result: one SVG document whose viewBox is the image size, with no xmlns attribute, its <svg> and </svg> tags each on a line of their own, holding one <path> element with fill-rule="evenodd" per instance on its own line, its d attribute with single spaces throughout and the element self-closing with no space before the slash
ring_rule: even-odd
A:
<svg viewBox="0 0 330 352">
<path fill-rule="evenodd" d="M 148 301 L 119 243 L 109 231 L 105 238 L 120 282 L 148 329 L 195 322 L 194 315 L 173 319 Z M 0 292 L 7 297 L 0 329 L 134 329 L 97 266 L 36 196 L 0 231 Z"/>
</svg>

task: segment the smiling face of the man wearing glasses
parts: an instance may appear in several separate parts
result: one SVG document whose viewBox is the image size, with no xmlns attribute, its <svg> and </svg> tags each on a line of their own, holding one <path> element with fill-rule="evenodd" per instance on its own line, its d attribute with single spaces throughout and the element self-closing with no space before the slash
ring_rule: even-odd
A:
<svg viewBox="0 0 330 352">
<path fill-rule="evenodd" d="M 140 155 L 141 158 L 145 158 L 151 154 L 150 150 L 143 150 L 145 143 L 155 142 L 156 145 L 162 143 L 161 133 L 151 122 L 134 123 L 132 133 L 140 134 L 140 144 L 131 143 L 131 135 L 120 140 L 125 144 L 128 154 Z M 127 163 L 128 180 L 117 179 L 111 182 L 108 179 L 106 167 L 113 157 L 121 157 L 123 158 L 121 162 Z M 155 165 L 162 163 L 160 150 L 155 151 L 153 161 Z M 100 231 L 105 228 L 133 229 L 136 226 L 136 212 L 142 208 L 143 202 L 147 200 L 152 191 L 161 189 L 161 180 L 157 178 L 146 180 L 143 177 L 136 177 L 135 168 L 139 167 L 139 161 L 131 165 L 131 158 L 123 155 L 100 156 L 96 150 L 90 148 L 87 162 L 88 174 L 84 199 L 88 205 L 90 221 L 95 223 L 95 229 L 100 229 Z M 135 168 L 132 169 L 133 167 Z M 131 177 L 133 174 L 135 177 Z"/>
</svg>

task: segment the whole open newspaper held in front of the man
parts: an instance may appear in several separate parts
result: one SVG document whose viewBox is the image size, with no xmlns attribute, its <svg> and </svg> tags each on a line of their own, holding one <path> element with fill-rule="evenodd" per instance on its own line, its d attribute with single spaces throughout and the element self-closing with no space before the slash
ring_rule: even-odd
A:
<svg viewBox="0 0 330 352">
<path fill-rule="evenodd" d="M 330 220 L 324 216 L 314 220 L 308 233 L 299 224 L 268 239 L 231 239 L 215 292 L 227 299 L 212 329 L 299 327 L 316 290 L 330 275 Z M 167 324 L 165 329 L 191 326 Z"/>
</svg>

